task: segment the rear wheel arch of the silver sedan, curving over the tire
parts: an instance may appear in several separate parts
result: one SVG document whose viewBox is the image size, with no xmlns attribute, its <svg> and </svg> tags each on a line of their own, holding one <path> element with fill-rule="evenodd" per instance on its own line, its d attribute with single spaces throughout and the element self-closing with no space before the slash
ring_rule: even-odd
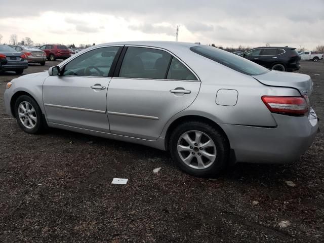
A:
<svg viewBox="0 0 324 243">
<path fill-rule="evenodd" d="M 222 133 L 222 135 L 226 139 L 226 142 L 230 148 L 230 142 L 229 142 L 229 139 L 228 139 L 226 133 L 215 121 L 213 121 L 210 118 L 207 118 L 205 116 L 200 116 L 200 115 L 184 115 L 184 116 L 178 117 L 177 119 L 172 121 L 172 123 L 169 125 L 169 127 L 167 129 L 166 136 L 165 136 L 165 148 L 167 151 L 170 150 L 169 140 L 170 140 L 172 132 L 174 131 L 174 129 L 177 126 L 179 126 L 184 121 L 200 121 L 200 122 L 207 123 L 207 124 L 211 125 L 212 127 L 216 128 L 220 133 Z"/>
</svg>

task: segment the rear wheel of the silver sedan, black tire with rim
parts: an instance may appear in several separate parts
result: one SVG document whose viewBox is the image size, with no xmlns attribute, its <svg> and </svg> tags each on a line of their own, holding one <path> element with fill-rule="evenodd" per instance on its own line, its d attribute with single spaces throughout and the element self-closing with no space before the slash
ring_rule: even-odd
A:
<svg viewBox="0 0 324 243">
<path fill-rule="evenodd" d="M 183 138 L 186 135 L 191 139 L 190 143 L 187 142 L 188 139 Z M 199 136 L 200 139 L 196 139 Z M 212 142 L 209 142 L 210 146 L 206 145 L 209 140 Z M 214 177 L 218 175 L 227 165 L 229 157 L 229 146 L 225 137 L 213 126 L 200 121 L 187 121 L 178 126 L 172 132 L 169 147 L 171 157 L 179 168 L 194 176 Z M 180 151 L 180 148 L 185 149 Z"/>
</svg>

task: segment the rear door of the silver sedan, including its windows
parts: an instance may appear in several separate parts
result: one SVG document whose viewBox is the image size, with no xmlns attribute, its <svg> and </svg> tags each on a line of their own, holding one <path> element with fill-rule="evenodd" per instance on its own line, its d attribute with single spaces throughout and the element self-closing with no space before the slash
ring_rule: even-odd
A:
<svg viewBox="0 0 324 243">
<path fill-rule="evenodd" d="M 110 132 L 156 140 L 167 121 L 194 101 L 200 81 L 165 50 L 125 50 L 107 93 Z"/>
</svg>

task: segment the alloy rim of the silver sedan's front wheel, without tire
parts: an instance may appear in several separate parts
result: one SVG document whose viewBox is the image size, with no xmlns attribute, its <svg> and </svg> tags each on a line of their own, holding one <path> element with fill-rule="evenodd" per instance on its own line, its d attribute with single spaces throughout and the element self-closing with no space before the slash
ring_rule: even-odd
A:
<svg viewBox="0 0 324 243">
<path fill-rule="evenodd" d="M 34 107 L 27 101 L 22 101 L 18 106 L 18 115 L 22 125 L 33 129 L 37 123 L 37 115 Z"/>
</svg>

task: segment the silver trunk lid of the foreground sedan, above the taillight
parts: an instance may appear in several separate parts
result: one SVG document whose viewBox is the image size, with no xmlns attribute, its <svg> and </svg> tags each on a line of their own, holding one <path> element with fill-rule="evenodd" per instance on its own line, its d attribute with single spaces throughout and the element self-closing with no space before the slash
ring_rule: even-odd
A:
<svg viewBox="0 0 324 243">
<path fill-rule="evenodd" d="M 308 97 L 313 90 L 312 79 L 306 74 L 270 71 L 253 77 L 264 85 L 298 89 L 302 95 Z"/>
</svg>

